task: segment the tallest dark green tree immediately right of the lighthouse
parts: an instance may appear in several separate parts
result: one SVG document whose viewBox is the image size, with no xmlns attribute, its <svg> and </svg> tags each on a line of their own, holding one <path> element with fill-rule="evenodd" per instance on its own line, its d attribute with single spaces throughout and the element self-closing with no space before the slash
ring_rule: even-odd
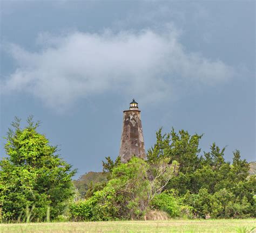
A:
<svg viewBox="0 0 256 233">
<path fill-rule="evenodd" d="M 179 173 L 173 176 L 167 189 L 177 189 L 180 194 L 185 194 L 187 189 L 198 191 L 198 182 L 194 179 L 194 172 L 202 167 L 203 158 L 199 156 L 199 140 L 202 135 L 190 135 L 185 130 L 178 133 L 172 128 L 170 133 L 162 133 L 162 129 L 156 133 L 157 142 L 147 153 L 149 163 L 156 163 L 161 158 L 178 161 Z"/>
</svg>

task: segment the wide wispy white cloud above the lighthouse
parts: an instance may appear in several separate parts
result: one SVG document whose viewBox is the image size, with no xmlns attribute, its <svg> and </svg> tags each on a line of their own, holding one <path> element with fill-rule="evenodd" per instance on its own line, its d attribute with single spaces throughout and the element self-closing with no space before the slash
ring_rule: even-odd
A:
<svg viewBox="0 0 256 233">
<path fill-rule="evenodd" d="M 165 32 L 41 34 L 37 42 L 37 52 L 8 46 L 17 69 L 1 86 L 5 94 L 30 93 L 51 108 L 63 109 L 108 91 L 137 96 L 144 103 L 164 101 L 176 87 L 214 85 L 234 75 L 223 61 L 187 52 L 174 27 Z"/>
</svg>

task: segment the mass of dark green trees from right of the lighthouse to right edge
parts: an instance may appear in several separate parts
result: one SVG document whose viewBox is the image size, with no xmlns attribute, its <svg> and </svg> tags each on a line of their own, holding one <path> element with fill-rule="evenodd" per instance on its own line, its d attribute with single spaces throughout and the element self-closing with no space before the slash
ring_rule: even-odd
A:
<svg viewBox="0 0 256 233">
<path fill-rule="evenodd" d="M 180 164 L 177 176 L 169 181 L 167 190 L 176 190 L 183 205 L 192 207 L 194 217 L 223 218 L 255 216 L 255 175 L 241 160 L 238 150 L 233 152 L 232 164 L 224 159 L 224 149 L 213 143 L 210 152 L 200 156 L 201 135 L 190 136 L 187 131 L 174 129 L 157 132 L 157 142 L 148 152 L 149 163 L 168 158 Z M 164 196 L 163 196 L 164 197 Z"/>
</svg>

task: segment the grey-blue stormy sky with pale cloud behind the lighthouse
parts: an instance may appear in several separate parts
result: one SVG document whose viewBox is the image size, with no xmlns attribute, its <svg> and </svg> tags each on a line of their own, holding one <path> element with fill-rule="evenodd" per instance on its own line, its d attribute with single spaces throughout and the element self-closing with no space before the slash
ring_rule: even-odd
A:
<svg viewBox="0 0 256 233">
<path fill-rule="evenodd" d="M 123 110 L 146 150 L 163 127 L 255 158 L 254 1 L 0 1 L 0 159 L 14 117 L 77 168 L 119 153 Z"/>
</svg>

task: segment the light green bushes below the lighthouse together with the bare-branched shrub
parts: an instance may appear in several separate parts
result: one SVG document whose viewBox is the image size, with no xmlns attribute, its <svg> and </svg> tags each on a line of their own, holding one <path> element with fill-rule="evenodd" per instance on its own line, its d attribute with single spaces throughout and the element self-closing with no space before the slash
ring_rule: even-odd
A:
<svg viewBox="0 0 256 233">
<path fill-rule="evenodd" d="M 70 213 L 73 220 L 104 221 L 139 219 L 149 203 L 176 173 L 178 165 L 160 160 L 149 166 L 144 160 L 133 157 L 126 164 L 112 170 L 106 186 L 85 201 L 73 203 Z"/>
</svg>

